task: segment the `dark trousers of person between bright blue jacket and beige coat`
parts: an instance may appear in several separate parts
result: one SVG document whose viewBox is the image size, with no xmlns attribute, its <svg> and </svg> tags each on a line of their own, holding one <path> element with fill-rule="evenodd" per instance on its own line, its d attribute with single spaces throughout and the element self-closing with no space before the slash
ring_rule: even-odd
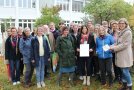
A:
<svg viewBox="0 0 134 90">
<path fill-rule="evenodd" d="M 115 78 L 121 80 L 122 72 L 121 69 L 115 65 L 115 53 L 113 53 L 113 66 L 114 66 Z"/>
</svg>

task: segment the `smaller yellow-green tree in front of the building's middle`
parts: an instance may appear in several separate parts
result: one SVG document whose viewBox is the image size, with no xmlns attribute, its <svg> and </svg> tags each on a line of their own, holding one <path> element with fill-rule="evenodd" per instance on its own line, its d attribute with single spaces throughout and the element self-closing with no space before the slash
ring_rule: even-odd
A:
<svg viewBox="0 0 134 90">
<path fill-rule="evenodd" d="M 44 7 L 41 10 L 41 17 L 38 18 L 35 22 L 35 26 L 49 24 L 50 22 L 54 22 L 56 25 L 61 21 L 61 18 L 59 17 L 59 11 L 61 8 L 59 6 L 53 6 L 51 8 Z"/>
</svg>

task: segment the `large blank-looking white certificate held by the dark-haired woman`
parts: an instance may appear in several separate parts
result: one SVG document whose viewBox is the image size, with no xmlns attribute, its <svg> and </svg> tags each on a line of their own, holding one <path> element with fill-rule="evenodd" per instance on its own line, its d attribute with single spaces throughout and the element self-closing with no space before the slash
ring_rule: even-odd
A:
<svg viewBox="0 0 134 90">
<path fill-rule="evenodd" d="M 89 57 L 89 44 L 80 44 L 80 57 Z"/>
</svg>

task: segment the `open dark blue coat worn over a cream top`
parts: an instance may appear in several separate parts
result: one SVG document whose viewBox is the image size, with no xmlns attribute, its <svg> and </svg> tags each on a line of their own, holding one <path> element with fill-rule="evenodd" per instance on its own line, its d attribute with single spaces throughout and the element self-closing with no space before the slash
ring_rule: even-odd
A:
<svg viewBox="0 0 134 90">
<path fill-rule="evenodd" d="M 43 47 L 44 47 L 44 63 L 45 65 L 48 64 L 48 58 L 50 58 L 50 48 L 48 42 L 44 36 L 43 37 Z M 31 58 L 35 60 L 35 65 L 39 65 L 39 41 L 37 36 L 32 40 L 32 51 L 31 51 Z"/>
</svg>

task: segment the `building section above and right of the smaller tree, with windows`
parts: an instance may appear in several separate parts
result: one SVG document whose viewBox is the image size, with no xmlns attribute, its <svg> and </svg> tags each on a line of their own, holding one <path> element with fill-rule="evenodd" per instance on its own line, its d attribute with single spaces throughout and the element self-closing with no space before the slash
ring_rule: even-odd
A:
<svg viewBox="0 0 134 90">
<path fill-rule="evenodd" d="M 85 14 L 82 12 L 86 0 L 41 0 L 40 8 L 44 6 L 52 7 L 58 5 L 61 7 L 60 17 L 69 26 L 71 22 L 82 23 Z"/>
</svg>

